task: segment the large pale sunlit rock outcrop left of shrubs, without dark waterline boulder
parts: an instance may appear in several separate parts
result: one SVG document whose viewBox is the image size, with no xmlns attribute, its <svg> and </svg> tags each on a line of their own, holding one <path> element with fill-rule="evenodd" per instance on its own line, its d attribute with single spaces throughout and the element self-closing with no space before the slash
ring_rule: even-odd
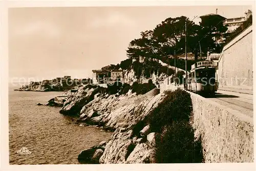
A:
<svg viewBox="0 0 256 171">
<path fill-rule="evenodd" d="M 143 122 L 165 96 L 164 93 L 100 95 L 82 107 L 81 120 L 115 131 L 99 163 L 154 163 L 155 134 Z"/>
</svg>

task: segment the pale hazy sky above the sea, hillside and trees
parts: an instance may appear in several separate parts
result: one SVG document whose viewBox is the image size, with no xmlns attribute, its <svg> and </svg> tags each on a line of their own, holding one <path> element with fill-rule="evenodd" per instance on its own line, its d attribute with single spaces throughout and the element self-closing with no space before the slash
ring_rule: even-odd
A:
<svg viewBox="0 0 256 171">
<path fill-rule="evenodd" d="M 43 7 L 8 12 L 9 81 L 71 76 L 127 59 L 129 43 L 168 17 L 244 16 L 250 6 Z M 194 19 L 196 23 L 200 18 Z"/>
</svg>

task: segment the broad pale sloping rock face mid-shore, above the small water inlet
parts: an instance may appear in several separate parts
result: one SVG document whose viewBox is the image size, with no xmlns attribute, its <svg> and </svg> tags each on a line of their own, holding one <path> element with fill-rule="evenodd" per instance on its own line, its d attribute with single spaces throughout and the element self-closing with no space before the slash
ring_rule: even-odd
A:
<svg viewBox="0 0 256 171">
<path fill-rule="evenodd" d="M 156 96 L 143 95 L 109 95 L 97 97 L 80 111 L 80 119 L 90 124 L 104 125 L 105 129 L 133 128 L 138 121 L 152 111 L 163 100 L 164 94 Z M 90 113 L 97 112 L 96 117 Z"/>
</svg>

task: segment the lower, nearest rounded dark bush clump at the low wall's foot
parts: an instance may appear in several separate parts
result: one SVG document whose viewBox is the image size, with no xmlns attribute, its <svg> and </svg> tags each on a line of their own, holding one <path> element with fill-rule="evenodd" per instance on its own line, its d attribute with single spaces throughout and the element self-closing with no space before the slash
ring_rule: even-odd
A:
<svg viewBox="0 0 256 171">
<path fill-rule="evenodd" d="M 174 121 L 162 134 L 156 135 L 157 163 L 201 163 L 201 141 L 194 139 L 194 130 L 185 120 Z"/>
</svg>

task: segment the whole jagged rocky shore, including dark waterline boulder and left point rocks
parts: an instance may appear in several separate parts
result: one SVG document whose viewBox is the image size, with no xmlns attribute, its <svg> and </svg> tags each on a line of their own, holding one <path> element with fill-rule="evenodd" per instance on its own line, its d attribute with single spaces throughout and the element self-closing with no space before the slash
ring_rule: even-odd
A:
<svg viewBox="0 0 256 171">
<path fill-rule="evenodd" d="M 148 135 L 149 137 L 146 136 L 149 128 L 144 127 L 134 134 L 138 135 L 141 130 L 143 138 L 133 137 L 132 129 L 138 121 L 143 120 L 162 102 L 166 94 L 160 93 L 148 98 L 147 95 L 135 94 L 104 96 L 103 92 L 102 95 L 94 99 L 94 95 L 98 92 L 99 90 L 96 88 L 80 87 L 76 94 L 69 95 L 61 109 L 61 113 L 80 114 L 80 120 L 89 125 L 99 125 L 104 129 L 115 131 L 105 146 L 99 144 L 91 150 L 81 152 L 79 161 L 83 163 L 96 162 L 92 160 L 92 157 L 97 149 L 101 149 L 103 154 L 99 158 L 99 163 L 152 162 L 151 159 L 148 159 L 151 154 L 150 150 L 154 148 L 152 134 Z M 97 113 L 96 116 L 94 113 Z"/>
</svg>

